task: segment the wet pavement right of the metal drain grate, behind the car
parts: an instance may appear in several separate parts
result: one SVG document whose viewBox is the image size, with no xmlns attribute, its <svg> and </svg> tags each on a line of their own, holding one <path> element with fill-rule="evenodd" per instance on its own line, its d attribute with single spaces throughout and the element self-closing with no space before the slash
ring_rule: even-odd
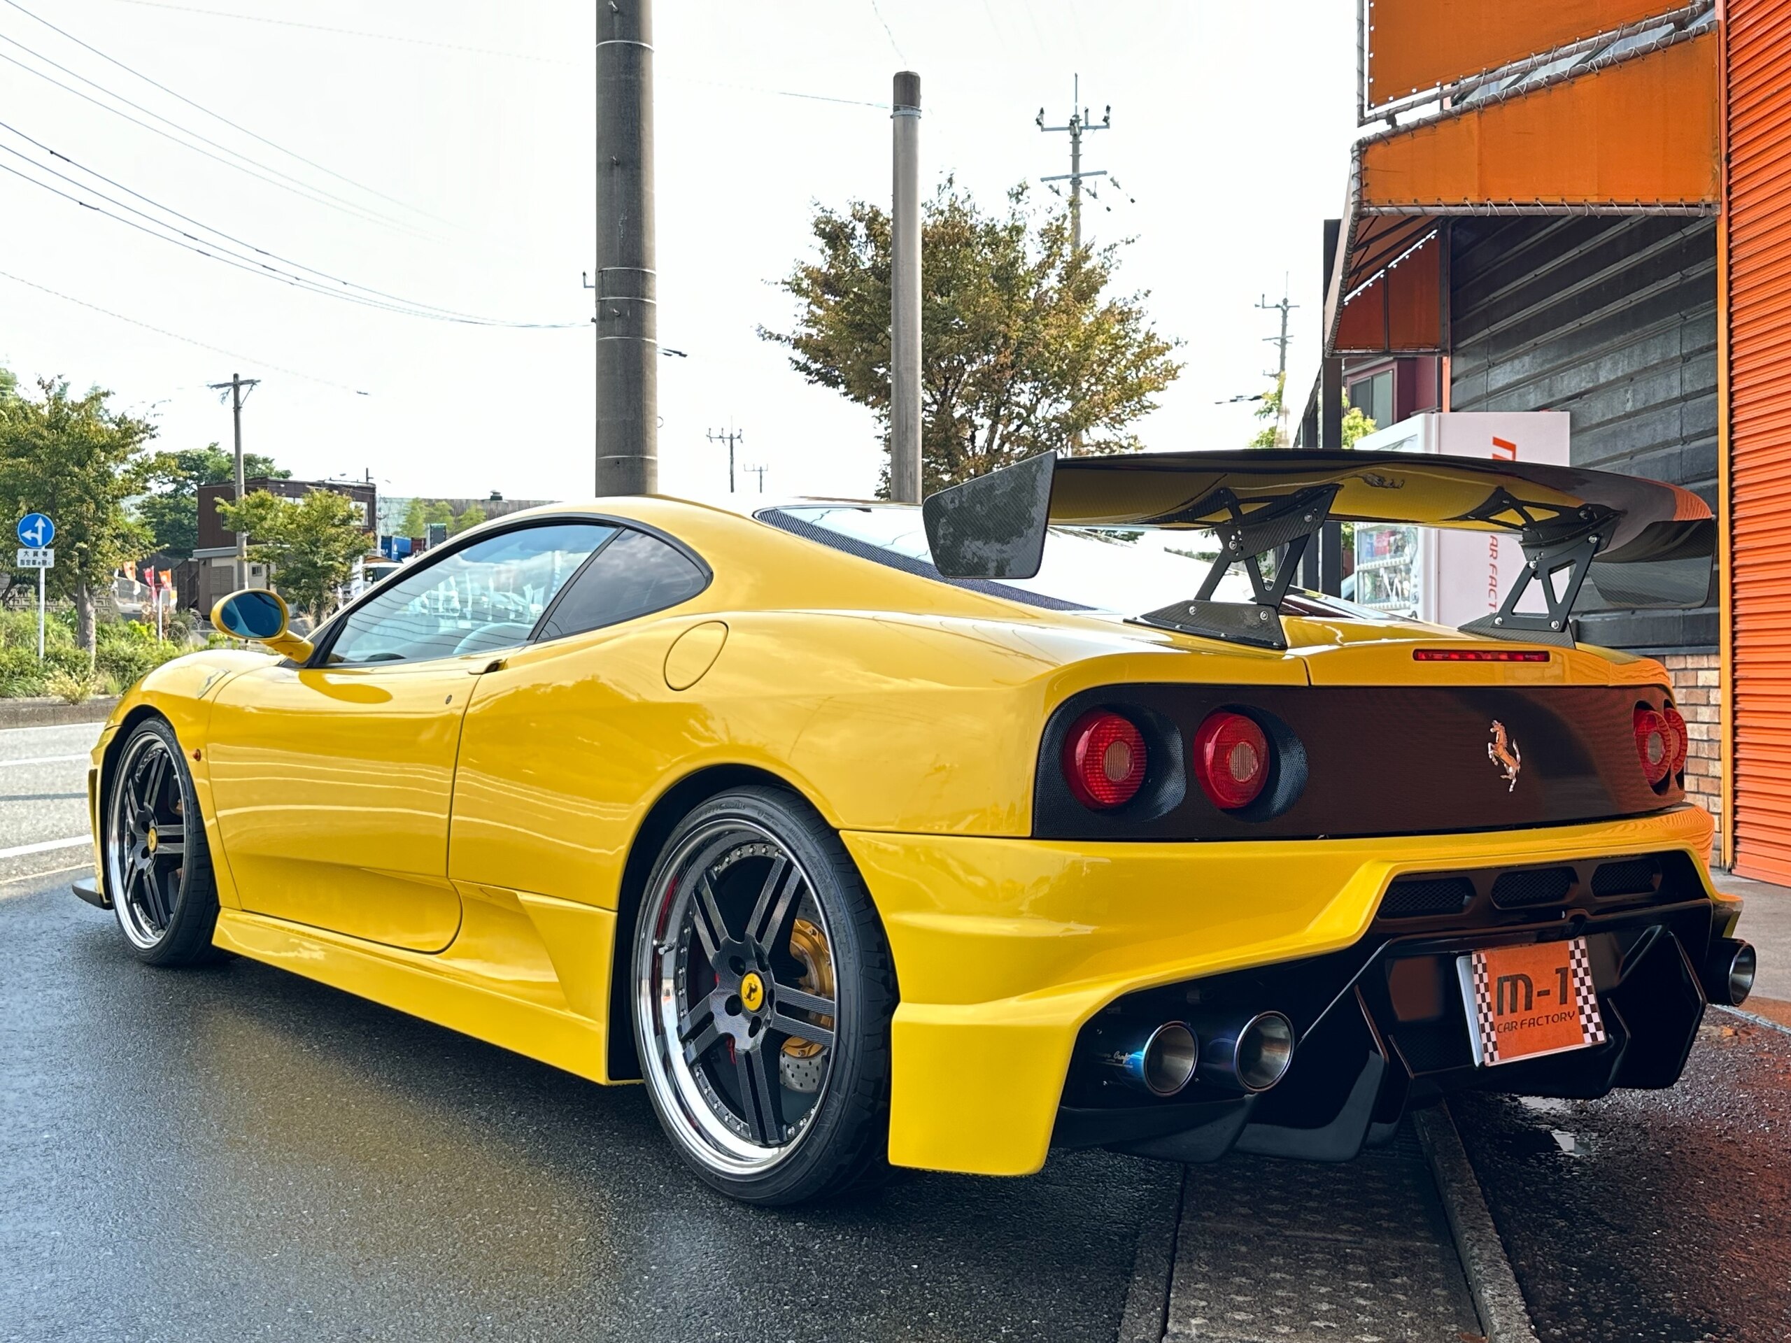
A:
<svg viewBox="0 0 1791 1343">
<path fill-rule="evenodd" d="M 1791 1338 L 1791 1033 L 1712 1008 L 1673 1091 L 1451 1110 L 1544 1343 Z"/>
</svg>

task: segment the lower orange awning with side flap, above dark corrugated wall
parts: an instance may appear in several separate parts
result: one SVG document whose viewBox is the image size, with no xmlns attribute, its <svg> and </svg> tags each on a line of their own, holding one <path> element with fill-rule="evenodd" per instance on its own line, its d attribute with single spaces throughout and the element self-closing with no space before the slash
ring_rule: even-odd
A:
<svg viewBox="0 0 1791 1343">
<path fill-rule="evenodd" d="M 1447 247 L 1426 238 L 1451 215 L 1716 213 L 1716 75 L 1707 29 L 1361 141 L 1325 295 L 1327 353 L 1447 347 Z"/>
</svg>

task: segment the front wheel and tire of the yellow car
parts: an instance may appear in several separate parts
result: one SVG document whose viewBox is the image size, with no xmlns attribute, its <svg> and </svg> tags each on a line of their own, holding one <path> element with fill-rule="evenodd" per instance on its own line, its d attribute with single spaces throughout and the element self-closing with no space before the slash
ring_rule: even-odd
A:
<svg viewBox="0 0 1791 1343">
<path fill-rule="evenodd" d="M 125 736 L 100 806 L 106 892 L 145 965 L 204 965 L 219 922 L 211 849 L 181 743 L 163 718 Z"/>
</svg>

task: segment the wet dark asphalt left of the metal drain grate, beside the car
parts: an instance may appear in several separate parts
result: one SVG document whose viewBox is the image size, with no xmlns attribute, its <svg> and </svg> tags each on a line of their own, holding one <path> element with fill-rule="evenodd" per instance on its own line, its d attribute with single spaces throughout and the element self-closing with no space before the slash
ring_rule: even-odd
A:
<svg viewBox="0 0 1791 1343">
<path fill-rule="evenodd" d="M 0 1339 L 1110 1339 L 1180 1169 L 903 1173 L 765 1212 L 602 1089 L 0 899 Z M 1155 1223 L 1153 1214 L 1155 1212 Z"/>
</svg>

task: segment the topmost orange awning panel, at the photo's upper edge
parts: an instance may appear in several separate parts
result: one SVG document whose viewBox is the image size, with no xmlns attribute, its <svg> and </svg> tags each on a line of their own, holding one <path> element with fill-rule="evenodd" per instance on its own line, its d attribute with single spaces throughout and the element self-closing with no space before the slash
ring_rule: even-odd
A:
<svg viewBox="0 0 1791 1343">
<path fill-rule="evenodd" d="M 1676 7 L 1662 0 L 1368 0 L 1368 109 Z"/>
</svg>

